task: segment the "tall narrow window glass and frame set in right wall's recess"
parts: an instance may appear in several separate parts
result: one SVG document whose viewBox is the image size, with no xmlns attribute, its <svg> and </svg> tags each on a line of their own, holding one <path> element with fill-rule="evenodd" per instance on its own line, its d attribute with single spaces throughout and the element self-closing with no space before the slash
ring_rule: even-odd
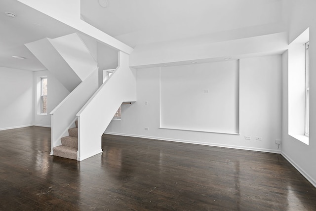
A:
<svg viewBox="0 0 316 211">
<path fill-rule="evenodd" d="M 310 130 L 310 42 L 305 43 L 305 135 Z"/>
</svg>

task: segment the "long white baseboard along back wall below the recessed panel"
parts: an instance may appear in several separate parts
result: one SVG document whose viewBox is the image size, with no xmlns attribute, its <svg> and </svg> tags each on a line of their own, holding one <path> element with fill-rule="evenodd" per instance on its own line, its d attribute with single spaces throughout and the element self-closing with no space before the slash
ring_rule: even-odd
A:
<svg viewBox="0 0 316 211">
<path fill-rule="evenodd" d="M 199 141 L 189 141 L 189 140 L 182 140 L 182 139 L 169 139 L 169 138 L 162 138 L 162 137 L 133 135 L 133 134 L 115 133 L 115 132 L 104 132 L 104 134 L 130 136 L 130 137 L 136 137 L 136 138 L 148 138 L 148 139 L 155 139 L 155 140 L 162 140 L 162 141 L 172 141 L 172 142 L 181 142 L 181 143 L 188 143 L 188 144 L 199 144 L 199 145 L 214 146 L 214 147 L 225 147 L 225 148 L 232 148 L 232 149 L 241 149 L 241 150 L 250 150 L 250 151 L 257 151 L 257 152 L 270 152 L 270 153 L 281 154 L 280 150 L 272 150 L 272 149 L 264 149 L 264 148 L 241 147 L 241 146 L 228 145 L 228 144 L 206 143 L 206 142 L 199 142 Z"/>
</svg>

